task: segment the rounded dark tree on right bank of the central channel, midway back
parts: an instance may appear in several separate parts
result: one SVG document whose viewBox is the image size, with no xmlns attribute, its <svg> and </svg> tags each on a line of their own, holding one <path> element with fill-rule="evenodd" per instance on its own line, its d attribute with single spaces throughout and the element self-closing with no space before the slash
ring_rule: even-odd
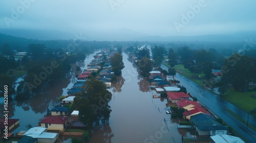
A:
<svg viewBox="0 0 256 143">
<path fill-rule="evenodd" d="M 141 60 L 138 61 L 138 68 L 140 70 L 140 75 L 143 77 L 148 76 L 149 72 L 152 69 L 151 60 L 143 57 Z"/>
</svg>

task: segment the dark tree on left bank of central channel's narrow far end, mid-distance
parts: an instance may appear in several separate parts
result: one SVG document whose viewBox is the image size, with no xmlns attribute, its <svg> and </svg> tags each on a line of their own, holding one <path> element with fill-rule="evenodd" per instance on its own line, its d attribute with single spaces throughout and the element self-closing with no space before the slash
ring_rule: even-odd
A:
<svg viewBox="0 0 256 143">
<path fill-rule="evenodd" d="M 123 56 L 120 53 L 115 53 L 113 57 L 111 57 L 111 65 L 112 70 L 116 76 L 122 75 L 122 69 L 124 68 L 123 64 Z"/>
</svg>

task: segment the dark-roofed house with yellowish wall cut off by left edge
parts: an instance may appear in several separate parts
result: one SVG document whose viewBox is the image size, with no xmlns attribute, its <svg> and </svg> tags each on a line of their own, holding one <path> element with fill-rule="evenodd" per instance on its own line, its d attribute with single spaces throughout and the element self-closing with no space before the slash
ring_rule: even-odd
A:
<svg viewBox="0 0 256 143">
<path fill-rule="evenodd" d="M 8 118 L 8 125 L 5 125 L 5 118 L 0 118 L 0 133 L 4 133 L 5 126 L 8 126 L 8 131 L 13 131 L 19 126 L 19 119 Z"/>
</svg>

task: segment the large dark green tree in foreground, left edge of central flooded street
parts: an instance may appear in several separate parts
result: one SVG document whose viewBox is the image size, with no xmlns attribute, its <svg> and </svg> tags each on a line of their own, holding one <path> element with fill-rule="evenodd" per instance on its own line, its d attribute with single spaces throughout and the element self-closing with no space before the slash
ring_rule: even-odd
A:
<svg viewBox="0 0 256 143">
<path fill-rule="evenodd" d="M 94 124 L 108 123 L 111 113 L 109 102 L 112 93 L 98 80 L 87 81 L 87 92 L 76 96 L 74 104 L 79 111 L 80 121 L 88 126 L 89 136 Z"/>
</svg>

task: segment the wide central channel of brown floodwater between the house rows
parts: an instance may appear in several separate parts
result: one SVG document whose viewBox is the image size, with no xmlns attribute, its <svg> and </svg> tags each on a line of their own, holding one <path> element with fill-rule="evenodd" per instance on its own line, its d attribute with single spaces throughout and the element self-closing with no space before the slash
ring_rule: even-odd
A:
<svg viewBox="0 0 256 143">
<path fill-rule="evenodd" d="M 95 129 L 90 142 L 181 142 L 184 133 L 178 131 L 178 121 L 165 114 L 167 100 L 153 99 L 156 93 L 126 54 L 123 62 L 122 82 L 109 89 L 113 94 L 109 124 Z"/>
</svg>

